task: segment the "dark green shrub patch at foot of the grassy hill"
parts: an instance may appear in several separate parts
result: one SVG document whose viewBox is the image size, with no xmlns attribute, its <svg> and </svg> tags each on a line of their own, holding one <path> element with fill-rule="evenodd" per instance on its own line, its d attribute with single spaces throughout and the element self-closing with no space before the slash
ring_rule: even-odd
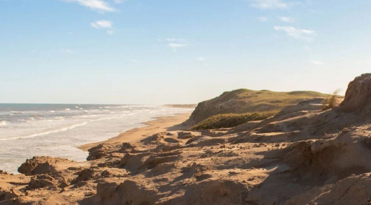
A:
<svg viewBox="0 0 371 205">
<path fill-rule="evenodd" d="M 191 127 L 191 130 L 206 130 L 206 129 L 236 127 L 240 124 L 247 123 L 248 121 L 263 120 L 267 117 L 273 116 L 274 114 L 275 114 L 274 112 L 244 113 L 244 114 L 217 114 Z"/>
</svg>

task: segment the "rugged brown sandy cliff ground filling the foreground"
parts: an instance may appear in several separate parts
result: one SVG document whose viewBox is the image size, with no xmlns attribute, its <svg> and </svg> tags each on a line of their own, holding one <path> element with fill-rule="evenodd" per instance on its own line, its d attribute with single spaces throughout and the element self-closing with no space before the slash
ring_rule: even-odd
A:
<svg viewBox="0 0 371 205">
<path fill-rule="evenodd" d="M 35 157 L 30 176 L 0 172 L 0 204 L 371 204 L 368 85 L 355 78 L 331 110 L 306 100 L 233 128 L 99 145 L 83 166 Z"/>
</svg>

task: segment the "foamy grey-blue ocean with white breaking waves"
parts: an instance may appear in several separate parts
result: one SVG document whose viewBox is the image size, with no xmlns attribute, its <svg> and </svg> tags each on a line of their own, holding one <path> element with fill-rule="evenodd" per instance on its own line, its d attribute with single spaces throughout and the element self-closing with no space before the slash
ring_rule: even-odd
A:
<svg viewBox="0 0 371 205">
<path fill-rule="evenodd" d="M 154 117 L 189 112 L 165 105 L 0 104 L 0 170 L 17 168 L 33 156 L 84 161 L 79 145 L 103 141 L 143 127 Z"/>
</svg>

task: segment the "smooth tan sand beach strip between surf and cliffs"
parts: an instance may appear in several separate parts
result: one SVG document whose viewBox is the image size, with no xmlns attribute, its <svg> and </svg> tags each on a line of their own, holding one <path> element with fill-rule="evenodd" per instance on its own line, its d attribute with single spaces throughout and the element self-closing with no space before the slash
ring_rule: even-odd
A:
<svg viewBox="0 0 371 205">
<path fill-rule="evenodd" d="M 168 131 L 172 129 L 174 130 L 186 129 L 187 126 L 181 126 L 180 124 L 187 120 L 191 113 L 192 112 L 187 112 L 170 116 L 155 117 L 154 120 L 141 123 L 145 125 L 144 127 L 132 128 L 118 134 L 118 136 L 111 137 L 107 140 L 82 144 L 77 146 L 76 148 L 81 149 L 84 152 L 87 152 L 88 149 L 95 147 L 99 144 L 134 142 L 163 131 Z"/>
</svg>

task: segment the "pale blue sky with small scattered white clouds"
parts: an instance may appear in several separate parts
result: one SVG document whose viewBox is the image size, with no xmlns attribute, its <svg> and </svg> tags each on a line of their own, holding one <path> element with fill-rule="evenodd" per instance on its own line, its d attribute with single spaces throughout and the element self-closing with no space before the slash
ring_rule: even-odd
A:
<svg viewBox="0 0 371 205">
<path fill-rule="evenodd" d="M 183 104 L 346 91 L 369 0 L 0 0 L 0 103 Z"/>
</svg>

